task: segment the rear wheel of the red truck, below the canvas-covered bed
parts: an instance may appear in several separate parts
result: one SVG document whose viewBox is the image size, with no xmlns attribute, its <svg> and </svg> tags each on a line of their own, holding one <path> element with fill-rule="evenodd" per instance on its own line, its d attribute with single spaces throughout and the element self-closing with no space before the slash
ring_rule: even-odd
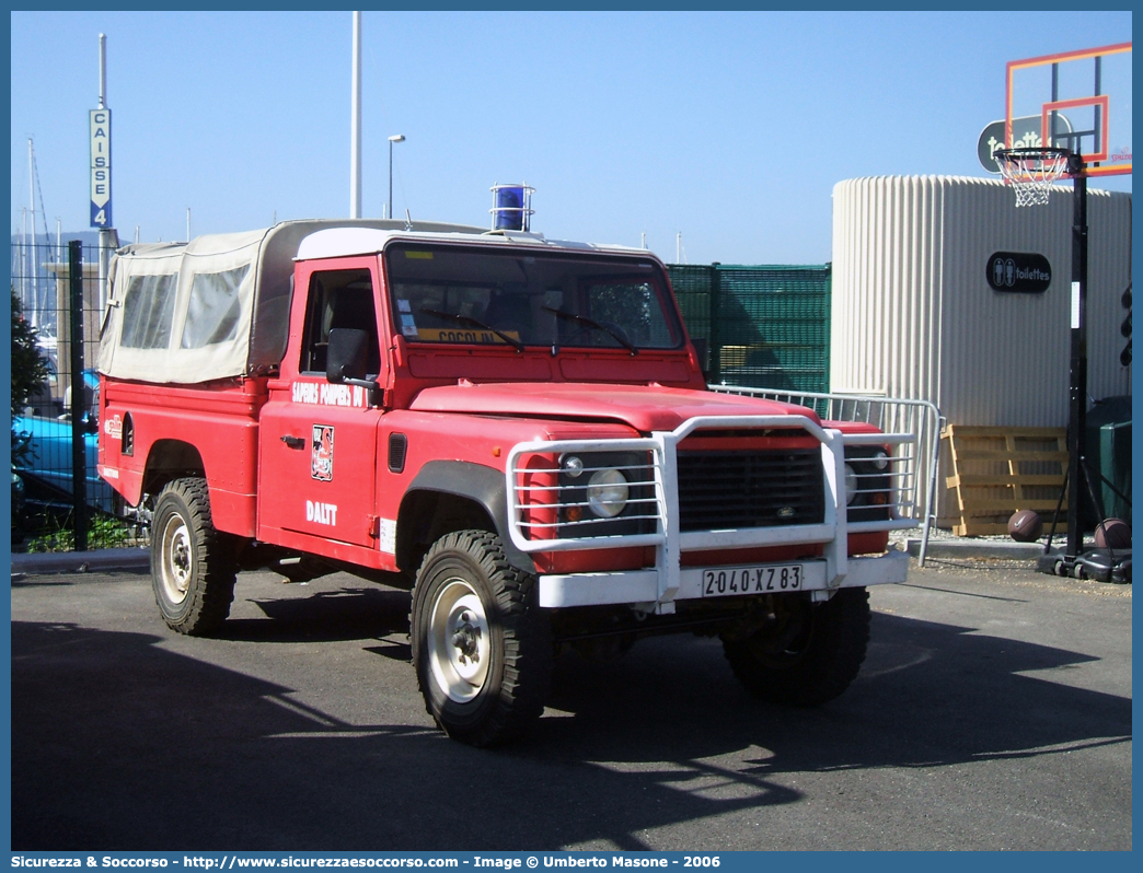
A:
<svg viewBox="0 0 1143 873">
<path fill-rule="evenodd" d="M 226 620 L 237 574 L 230 545 L 215 530 L 206 480 L 162 489 L 151 522 L 151 583 L 173 630 L 201 636 Z"/>
</svg>

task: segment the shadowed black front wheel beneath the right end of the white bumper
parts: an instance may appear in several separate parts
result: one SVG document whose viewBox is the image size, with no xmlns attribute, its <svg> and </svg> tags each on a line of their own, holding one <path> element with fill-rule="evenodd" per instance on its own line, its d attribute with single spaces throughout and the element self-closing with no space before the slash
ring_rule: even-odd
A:
<svg viewBox="0 0 1143 873">
<path fill-rule="evenodd" d="M 744 640 L 724 639 L 730 668 L 756 697 L 817 706 L 857 678 L 869 646 L 869 592 L 841 588 L 824 603 L 775 598 L 773 626 Z"/>
</svg>

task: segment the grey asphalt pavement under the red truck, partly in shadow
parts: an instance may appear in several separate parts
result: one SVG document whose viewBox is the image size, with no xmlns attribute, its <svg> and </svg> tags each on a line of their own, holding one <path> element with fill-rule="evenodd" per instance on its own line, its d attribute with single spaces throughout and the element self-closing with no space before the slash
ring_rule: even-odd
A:
<svg viewBox="0 0 1143 873">
<path fill-rule="evenodd" d="M 14 850 L 1132 848 L 1129 585 L 930 558 L 821 708 L 669 636 L 563 656 L 481 751 L 424 711 L 405 592 L 243 574 L 191 639 L 87 569 L 13 577 Z"/>
</svg>

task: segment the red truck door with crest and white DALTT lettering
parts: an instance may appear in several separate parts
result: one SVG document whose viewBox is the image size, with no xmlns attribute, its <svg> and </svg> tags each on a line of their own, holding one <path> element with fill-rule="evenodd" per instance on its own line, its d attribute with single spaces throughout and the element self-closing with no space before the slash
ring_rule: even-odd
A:
<svg viewBox="0 0 1143 873">
<path fill-rule="evenodd" d="M 328 263 L 328 262 L 327 262 Z M 326 378 L 333 328 L 369 331 L 370 376 L 383 367 L 377 333 L 377 259 L 343 258 L 298 269 L 291 331 L 281 378 L 262 410 L 258 527 L 267 542 L 320 551 L 314 543 L 274 536 L 271 529 L 376 547 L 377 426 L 382 410 L 361 387 Z M 383 378 L 383 377 L 382 377 Z M 382 383 L 384 384 L 384 383 Z"/>
</svg>

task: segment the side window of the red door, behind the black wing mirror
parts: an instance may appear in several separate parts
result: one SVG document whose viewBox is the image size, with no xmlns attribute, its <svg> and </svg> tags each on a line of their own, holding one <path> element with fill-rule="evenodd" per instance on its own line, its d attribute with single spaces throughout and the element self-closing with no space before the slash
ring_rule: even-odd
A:
<svg viewBox="0 0 1143 873">
<path fill-rule="evenodd" d="M 374 310 L 373 280 L 368 270 L 330 270 L 310 278 L 310 296 L 302 343 L 302 373 L 326 373 L 326 352 L 333 328 L 359 328 L 369 333 L 369 374 L 381 371 L 381 344 Z"/>
</svg>

